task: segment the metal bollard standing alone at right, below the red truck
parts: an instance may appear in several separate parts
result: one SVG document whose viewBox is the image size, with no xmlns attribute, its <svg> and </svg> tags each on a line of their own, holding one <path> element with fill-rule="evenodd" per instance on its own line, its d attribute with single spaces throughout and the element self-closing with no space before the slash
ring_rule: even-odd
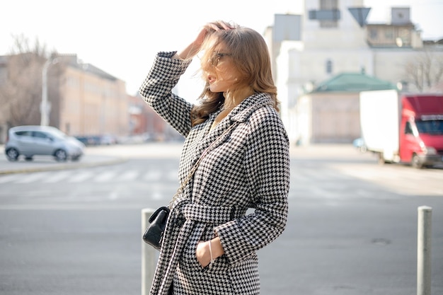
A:
<svg viewBox="0 0 443 295">
<path fill-rule="evenodd" d="M 431 295 L 432 207 L 418 207 L 417 295 Z"/>
</svg>

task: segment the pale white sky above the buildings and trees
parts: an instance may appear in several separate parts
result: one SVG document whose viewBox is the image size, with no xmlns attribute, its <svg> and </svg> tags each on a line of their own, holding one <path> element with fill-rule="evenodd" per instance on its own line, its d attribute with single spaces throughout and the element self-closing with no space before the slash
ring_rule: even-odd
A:
<svg viewBox="0 0 443 295">
<path fill-rule="evenodd" d="M 23 35 L 31 44 L 38 40 L 47 50 L 77 54 L 81 62 L 125 81 L 127 93 L 135 95 L 156 52 L 181 50 L 205 23 L 221 19 L 263 33 L 273 24 L 275 14 L 301 13 L 301 2 L 3 0 L 0 55 L 11 52 L 13 36 Z M 364 0 L 364 6 L 372 8 L 369 23 L 389 23 L 392 6 L 409 6 L 411 20 L 422 30 L 422 37 L 443 37 L 443 0 Z"/>
</svg>

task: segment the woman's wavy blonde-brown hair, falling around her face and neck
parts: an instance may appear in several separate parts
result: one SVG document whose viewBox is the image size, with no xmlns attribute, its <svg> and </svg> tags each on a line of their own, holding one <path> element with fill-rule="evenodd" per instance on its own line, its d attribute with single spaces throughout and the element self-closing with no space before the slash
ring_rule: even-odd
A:
<svg viewBox="0 0 443 295">
<path fill-rule="evenodd" d="M 224 26 L 230 30 L 224 30 Z M 272 79 L 270 55 L 263 36 L 251 28 L 232 25 L 223 21 L 216 21 L 220 30 L 209 26 L 207 38 L 202 45 L 205 53 L 202 56 L 201 67 L 204 70 L 210 66 L 209 58 L 220 43 L 226 45 L 234 66 L 243 78 L 238 84 L 247 85 L 254 93 L 269 93 L 272 104 L 278 110 L 277 87 Z M 223 93 L 214 93 L 209 90 L 209 82 L 198 98 L 198 105 L 192 108 L 192 126 L 205 122 L 212 112 L 217 111 L 224 103 Z"/>
</svg>

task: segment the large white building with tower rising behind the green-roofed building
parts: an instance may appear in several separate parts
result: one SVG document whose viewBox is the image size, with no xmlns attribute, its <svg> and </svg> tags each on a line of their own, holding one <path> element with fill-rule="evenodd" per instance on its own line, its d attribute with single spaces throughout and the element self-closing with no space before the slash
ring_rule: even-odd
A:
<svg viewBox="0 0 443 295">
<path fill-rule="evenodd" d="M 306 104 L 306 94 L 324 81 L 353 73 L 394 85 L 408 84 L 405 65 L 423 49 L 420 32 L 410 22 L 410 9 L 392 8 L 391 21 L 384 24 L 367 24 L 369 11 L 363 0 L 305 0 L 300 15 L 275 15 L 275 23 L 268 28 L 265 38 L 270 45 L 282 120 L 292 142 L 301 137 L 309 142 L 322 141 L 311 140 L 312 130 L 318 129 L 312 120 L 316 110 L 301 112 L 299 105 L 301 101 Z M 439 54 L 443 57 L 442 51 Z M 367 87 L 353 89 L 352 93 L 363 90 Z M 344 96 L 349 97 L 348 92 L 344 90 Z M 338 96 L 335 92 L 331 99 L 336 100 L 329 104 L 339 103 Z M 327 100 L 327 91 L 326 96 L 322 91 L 322 97 Z M 334 141 L 330 135 L 326 137 L 329 142 Z"/>
</svg>

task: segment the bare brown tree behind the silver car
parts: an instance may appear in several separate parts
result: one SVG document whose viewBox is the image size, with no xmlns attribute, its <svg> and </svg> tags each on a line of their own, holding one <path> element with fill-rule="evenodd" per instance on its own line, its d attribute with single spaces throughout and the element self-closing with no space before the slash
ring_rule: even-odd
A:
<svg viewBox="0 0 443 295">
<path fill-rule="evenodd" d="M 42 66 L 48 54 L 45 45 L 33 45 L 23 35 L 13 36 L 6 75 L 0 83 L 0 114 L 7 125 L 39 125 L 42 99 Z M 49 79 L 48 79 L 49 80 Z"/>
</svg>

